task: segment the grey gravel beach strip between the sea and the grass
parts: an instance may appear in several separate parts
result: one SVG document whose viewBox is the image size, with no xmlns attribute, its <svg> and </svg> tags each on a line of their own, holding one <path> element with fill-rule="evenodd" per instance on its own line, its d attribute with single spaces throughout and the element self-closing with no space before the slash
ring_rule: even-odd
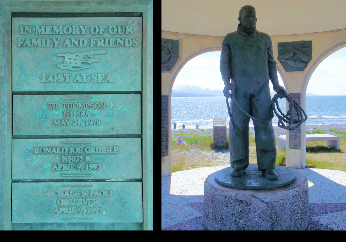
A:
<svg viewBox="0 0 346 242">
<path fill-rule="evenodd" d="M 228 126 L 228 125 L 227 125 Z M 273 126 L 274 128 L 274 133 L 275 137 L 278 138 L 280 135 L 286 134 L 286 130 L 279 128 L 277 126 Z M 306 125 L 306 130 L 309 132 L 312 132 L 314 129 L 322 129 L 326 131 L 326 134 L 331 134 L 331 135 L 338 135 L 333 133 L 333 131 L 330 131 L 329 129 L 333 128 L 336 129 L 337 131 L 344 131 L 346 130 L 346 124 L 324 124 L 324 125 Z M 176 129 L 172 130 L 172 139 L 176 140 L 178 136 L 174 135 L 175 133 L 180 133 L 181 131 L 184 131 L 184 133 L 190 133 L 192 131 L 200 131 L 199 134 L 193 134 L 193 135 L 184 135 L 183 137 L 193 137 L 193 136 L 208 136 L 208 137 L 213 137 L 213 129 L 204 129 L 204 133 L 202 133 L 202 128 L 197 130 L 197 129 Z M 210 132 L 210 133 L 209 133 Z M 254 127 L 249 127 L 249 132 L 251 133 L 252 137 L 255 137 L 255 130 Z M 228 134 L 228 128 L 227 128 L 227 134 Z"/>
</svg>

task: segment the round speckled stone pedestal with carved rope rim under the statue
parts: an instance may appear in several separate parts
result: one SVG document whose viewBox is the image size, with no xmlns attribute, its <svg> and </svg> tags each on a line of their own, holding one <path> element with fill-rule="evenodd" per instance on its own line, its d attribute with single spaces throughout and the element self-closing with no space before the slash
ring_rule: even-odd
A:
<svg viewBox="0 0 346 242">
<path fill-rule="evenodd" d="M 215 173 L 204 182 L 204 224 L 208 230 L 305 230 L 308 180 L 298 171 L 290 185 L 263 190 L 222 186 Z"/>
</svg>

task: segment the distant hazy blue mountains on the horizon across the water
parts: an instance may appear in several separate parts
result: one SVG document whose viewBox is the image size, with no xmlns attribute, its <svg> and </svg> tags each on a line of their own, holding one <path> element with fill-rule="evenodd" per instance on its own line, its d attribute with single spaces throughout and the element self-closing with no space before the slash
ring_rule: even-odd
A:
<svg viewBox="0 0 346 242">
<path fill-rule="evenodd" d="M 273 97 L 276 92 L 270 92 Z M 318 96 L 313 93 L 307 93 L 307 96 Z M 172 97 L 207 97 L 207 96 L 224 96 L 224 90 L 210 90 L 209 88 L 202 88 L 200 86 L 173 86 Z"/>
</svg>

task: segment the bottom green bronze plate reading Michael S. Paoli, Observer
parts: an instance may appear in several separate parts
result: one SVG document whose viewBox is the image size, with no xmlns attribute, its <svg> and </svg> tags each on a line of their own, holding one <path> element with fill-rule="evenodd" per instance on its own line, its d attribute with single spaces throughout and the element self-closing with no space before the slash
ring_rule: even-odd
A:
<svg viewBox="0 0 346 242">
<path fill-rule="evenodd" d="M 143 222 L 141 182 L 12 183 L 12 223 Z"/>
</svg>

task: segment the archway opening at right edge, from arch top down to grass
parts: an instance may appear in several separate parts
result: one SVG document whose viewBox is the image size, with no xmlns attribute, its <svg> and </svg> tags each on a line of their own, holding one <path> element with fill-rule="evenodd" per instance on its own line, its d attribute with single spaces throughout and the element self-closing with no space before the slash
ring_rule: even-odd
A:
<svg viewBox="0 0 346 242">
<path fill-rule="evenodd" d="M 307 137 L 327 134 L 346 141 L 345 65 L 344 47 L 326 57 L 312 73 L 306 91 Z M 325 140 L 307 141 L 307 166 L 346 170 L 346 142 L 338 141 L 327 142 L 327 147 Z"/>
</svg>

